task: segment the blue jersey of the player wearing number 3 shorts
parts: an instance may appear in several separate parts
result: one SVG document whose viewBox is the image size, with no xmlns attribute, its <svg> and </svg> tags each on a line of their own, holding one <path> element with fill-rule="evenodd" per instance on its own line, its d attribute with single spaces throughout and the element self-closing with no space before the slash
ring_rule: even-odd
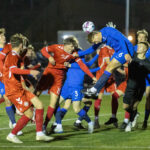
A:
<svg viewBox="0 0 150 150">
<path fill-rule="evenodd" d="M 96 55 L 89 62 L 86 62 L 84 57 L 82 57 L 81 59 L 88 67 L 90 67 L 97 58 L 98 58 L 98 55 Z M 100 68 L 98 67 L 95 69 L 90 69 L 90 71 L 96 72 L 99 69 Z M 70 87 L 83 87 L 84 75 L 85 73 L 81 70 L 80 66 L 76 62 L 71 63 L 71 67 L 68 69 L 66 73 L 65 84 L 67 83 L 67 85 Z"/>
</svg>

